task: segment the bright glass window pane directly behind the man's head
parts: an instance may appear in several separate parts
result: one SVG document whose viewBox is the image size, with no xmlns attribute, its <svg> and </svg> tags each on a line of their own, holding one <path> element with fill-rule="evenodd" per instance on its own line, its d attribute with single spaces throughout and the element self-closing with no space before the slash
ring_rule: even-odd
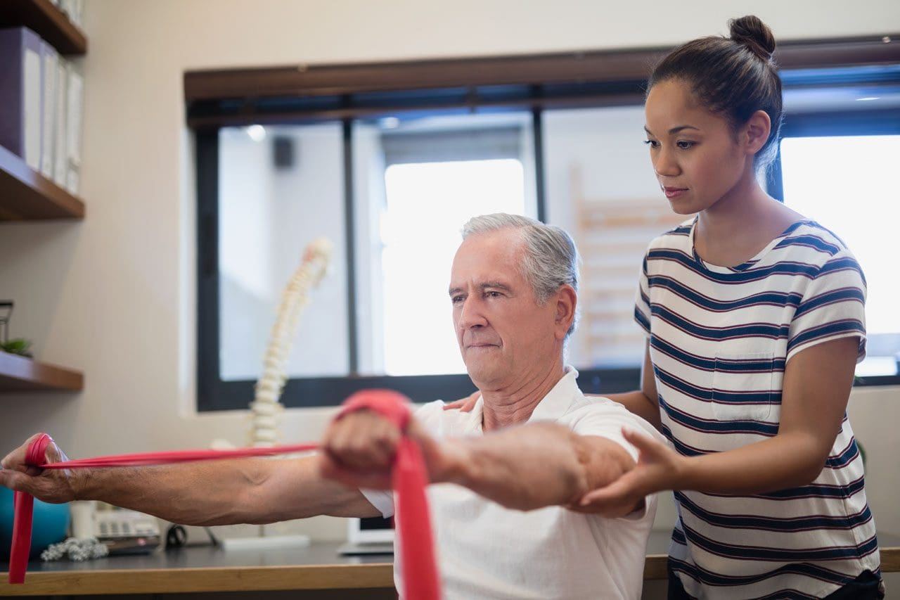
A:
<svg viewBox="0 0 900 600">
<path fill-rule="evenodd" d="M 355 142 L 360 370 L 464 373 L 451 263 L 473 216 L 535 216 L 530 115 L 360 123 Z"/>
</svg>

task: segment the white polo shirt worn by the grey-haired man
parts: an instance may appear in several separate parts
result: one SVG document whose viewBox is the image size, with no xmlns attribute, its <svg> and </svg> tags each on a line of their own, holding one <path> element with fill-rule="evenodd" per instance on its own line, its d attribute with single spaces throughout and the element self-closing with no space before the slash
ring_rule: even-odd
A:
<svg viewBox="0 0 900 600">
<path fill-rule="evenodd" d="M 585 398 L 566 374 L 537 405 L 529 422 L 552 421 L 580 435 L 597 435 L 637 452 L 622 428 L 667 443 L 662 435 L 622 405 Z M 444 411 L 440 400 L 422 406 L 416 418 L 436 438 L 482 435 L 482 399 L 472 413 Z M 394 512 L 391 492 L 364 490 L 385 517 Z M 621 519 L 574 513 L 562 506 L 522 512 L 504 508 L 454 484 L 428 487 L 437 564 L 446 600 L 456 598 L 629 598 L 641 597 L 647 537 L 656 496 L 646 508 Z M 401 590 L 401 559 L 394 581 Z"/>
</svg>

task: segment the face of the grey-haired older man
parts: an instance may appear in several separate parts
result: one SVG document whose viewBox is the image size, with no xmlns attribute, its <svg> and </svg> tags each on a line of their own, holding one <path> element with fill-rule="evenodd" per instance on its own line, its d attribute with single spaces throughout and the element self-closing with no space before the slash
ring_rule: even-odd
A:
<svg viewBox="0 0 900 600">
<path fill-rule="evenodd" d="M 520 232 L 503 229 L 470 236 L 453 261 L 456 341 L 469 377 L 482 391 L 524 383 L 561 359 L 554 297 L 537 304 L 520 272 L 522 252 Z"/>
</svg>

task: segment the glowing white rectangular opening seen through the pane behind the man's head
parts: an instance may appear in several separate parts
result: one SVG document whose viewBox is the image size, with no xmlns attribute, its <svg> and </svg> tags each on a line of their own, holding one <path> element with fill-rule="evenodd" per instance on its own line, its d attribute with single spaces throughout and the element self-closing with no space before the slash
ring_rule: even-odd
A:
<svg viewBox="0 0 900 600">
<path fill-rule="evenodd" d="M 384 179 L 384 372 L 464 373 L 447 299 L 441 294 L 459 245 L 459 224 L 473 214 L 523 214 L 522 163 L 487 159 L 397 164 L 387 168 Z"/>
</svg>

